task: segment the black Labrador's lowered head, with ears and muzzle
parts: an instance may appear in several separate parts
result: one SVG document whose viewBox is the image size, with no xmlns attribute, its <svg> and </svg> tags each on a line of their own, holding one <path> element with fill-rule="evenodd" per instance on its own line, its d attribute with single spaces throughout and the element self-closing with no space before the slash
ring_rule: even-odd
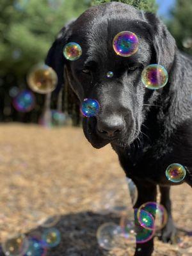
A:
<svg viewBox="0 0 192 256">
<path fill-rule="evenodd" d="M 113 50 L 113 38 L 121 31 L 138 36 L 138 51 L 125 58 Z M 68 61 L 63 47 L 68 42 L 81 45 L 79 60 Z M 83 130 L 93 147 L 108 143 L 126 147 L 138 136 L 145 119 L 144 104 L 152 104 L 164 90 L 148 90 L 141 72 L 151 63 L 168 72 L 175 56 L 175 40 L 156 15 L 140 12 L 127 4 L 101 4 L 86 10 L 58 35 L 46 63 L 56 70 L 60 87 L 68 82 L 79 106 L 85 98 L 100 104 L 97 116 L 83 118 Z M 108 78 L 108 71 L 114 76 Z"/>
</svg>

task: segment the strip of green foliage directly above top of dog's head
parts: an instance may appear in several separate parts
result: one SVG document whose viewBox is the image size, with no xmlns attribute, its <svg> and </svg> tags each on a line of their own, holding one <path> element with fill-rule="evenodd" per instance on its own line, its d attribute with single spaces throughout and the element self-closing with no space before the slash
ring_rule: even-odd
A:
<svg viewBox="0 0 192 256">
<path fill-rule="evenodd" d="M 109 3 L 113 1 L 130 4 L 135 8 L 138 8 L 139 10 L 144 10 L 146 12 L 155 13 L 157 11 L 157 4 L 155 0 L 92 0 L 92 5 Z"/>
</svg>

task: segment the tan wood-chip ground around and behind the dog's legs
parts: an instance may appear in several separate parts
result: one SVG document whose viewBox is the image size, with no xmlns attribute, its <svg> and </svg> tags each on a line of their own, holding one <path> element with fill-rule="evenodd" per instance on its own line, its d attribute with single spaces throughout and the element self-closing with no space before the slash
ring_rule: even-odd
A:
<svg viewBox="0 0 192 256">
<path fill-rule="evenodd" d="M 97 244 L 102 223 L 119 223 L 117 207 L 132 211 L 125 174 L 109 145 L 92 148 L 81 128 L 1 124 L 0 163 L 1 243 L 18 232 L 41 231 L 44 218 L 59 214 L 61 243 L 47 255 L 133 255 L 132 245 L 106 251 Z M 156 239 L 154 256 L 192 255 L 191 192 L 186 184 L 172 188 L 173 219 L 188 235 L 180 232 L 180 244 Z"/>
</svg>

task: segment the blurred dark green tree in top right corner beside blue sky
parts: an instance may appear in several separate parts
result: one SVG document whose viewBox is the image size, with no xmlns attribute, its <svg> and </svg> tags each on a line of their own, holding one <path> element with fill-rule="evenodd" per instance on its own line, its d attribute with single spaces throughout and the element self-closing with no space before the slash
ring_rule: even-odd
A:
<svg viewBox="0 0 192 256">
<path fill-rule="evenodd" d="M 191 0 L 177 0 L 172 10 L 168 28 L 182 51 L 192 54 L 192 4 Z"/>
</svg>

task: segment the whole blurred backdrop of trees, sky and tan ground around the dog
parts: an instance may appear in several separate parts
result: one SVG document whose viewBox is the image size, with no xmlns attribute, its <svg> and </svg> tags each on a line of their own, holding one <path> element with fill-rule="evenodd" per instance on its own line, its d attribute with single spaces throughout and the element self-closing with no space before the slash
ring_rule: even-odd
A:
<svg viewBox="0 0 192 256">
<path fill-rule="evenodd" d="M 127 227 L 133 218 L 137 190 L 115 152 L 110 145 L 95 150 L 72 127 L 77 109 L 65 112 L 65 93 L 36 93 L 27 83 L 65 23 L 109 1 L 0 0 L 0 256 L 133 255 L 125 239 L 118 252 L 108 252 L 114 244 L 98 231 L 111 221 L 118 227 L 122 218 Z M 116 1 L 156 12 L 179 49 L 192 54 L 191 0 Z M 173 187 L 173 219 L 184 232 L 177 244 L 156 237 L 154 256 L 192 255 L 191 188 Z"/>
</svg>

